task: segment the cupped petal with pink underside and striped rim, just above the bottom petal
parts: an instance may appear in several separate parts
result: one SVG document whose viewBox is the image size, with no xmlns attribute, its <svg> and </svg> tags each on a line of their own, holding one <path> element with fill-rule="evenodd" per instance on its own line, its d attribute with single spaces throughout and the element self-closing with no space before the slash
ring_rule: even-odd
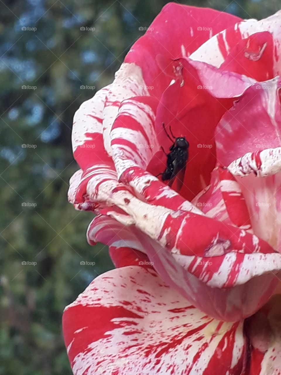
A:
<svg viewBox="0 0 281 375">
<path fill-rule="evenodd" d="M 188 257 L 171 254 L 147 237 L 141 238 L 158 275 L 192 305 L 217 319 L 249 317 L 266 303 L 278 284 L 278 253 Z"/>
</svg>

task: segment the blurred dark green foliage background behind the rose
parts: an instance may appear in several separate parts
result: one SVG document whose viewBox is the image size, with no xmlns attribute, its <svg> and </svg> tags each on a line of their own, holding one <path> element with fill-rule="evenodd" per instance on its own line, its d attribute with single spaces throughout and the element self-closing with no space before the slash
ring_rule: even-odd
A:
<svg viewBox="0 0 281 375">
<path fill-rule="evenodd" d="M 167 2 L 1 1 L 0 375 L 72 374 L 63 309 L 113 268 L 105 246 L 86 242 L 93 215 L 67 204 L 68 181 L 78 169 L 73 114 L 113 80 L 143 34 L 139 27 L 149 26 Z M 182 3 L 258 19 L 281 6 L 280 0 Z"/>
</svg>

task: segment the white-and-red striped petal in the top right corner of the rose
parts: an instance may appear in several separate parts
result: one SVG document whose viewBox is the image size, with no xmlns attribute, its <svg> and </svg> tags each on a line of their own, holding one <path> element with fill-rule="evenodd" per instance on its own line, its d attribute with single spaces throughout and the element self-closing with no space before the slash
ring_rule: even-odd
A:
<svg viewBox="0 0 281 375">
<path fill-rule="evenodd" d="M 260 74 L 265 79 L 280 75 L 281 53 L 281 12 L 264 20 L 246 20 L 226 28 L 211 37 L 191 55 L 192 60 L 208 63 L 216 68 L 238 71 L 241 74 L 254 76 L 256 80 Z M 266 43 L 266 45 L 265 45 Z M 236 49 L 236 50 L 235 50 Z M 233 55 L 235 55 L 233 59 Z M 255 62 L 256 64 L 252 64 Z M 238 67 L 238 65 L 240 68 Z M 253 72 L 254 66 L 254 72 Z M 260 72 L 263 67 L 265 71 Z"/>
</svg>

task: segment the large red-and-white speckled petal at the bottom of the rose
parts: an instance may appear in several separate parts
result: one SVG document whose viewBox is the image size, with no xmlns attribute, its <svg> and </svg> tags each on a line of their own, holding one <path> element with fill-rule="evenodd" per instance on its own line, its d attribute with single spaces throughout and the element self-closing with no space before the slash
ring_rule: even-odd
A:
<svg viewBox="0 0 281 375">
<path fill-rule="evenodd" d="M 206 316 L 142 267 L 99 276 L 63 315 L 75 375 L 241 374 L 242 328 Z"/>
</svg>

